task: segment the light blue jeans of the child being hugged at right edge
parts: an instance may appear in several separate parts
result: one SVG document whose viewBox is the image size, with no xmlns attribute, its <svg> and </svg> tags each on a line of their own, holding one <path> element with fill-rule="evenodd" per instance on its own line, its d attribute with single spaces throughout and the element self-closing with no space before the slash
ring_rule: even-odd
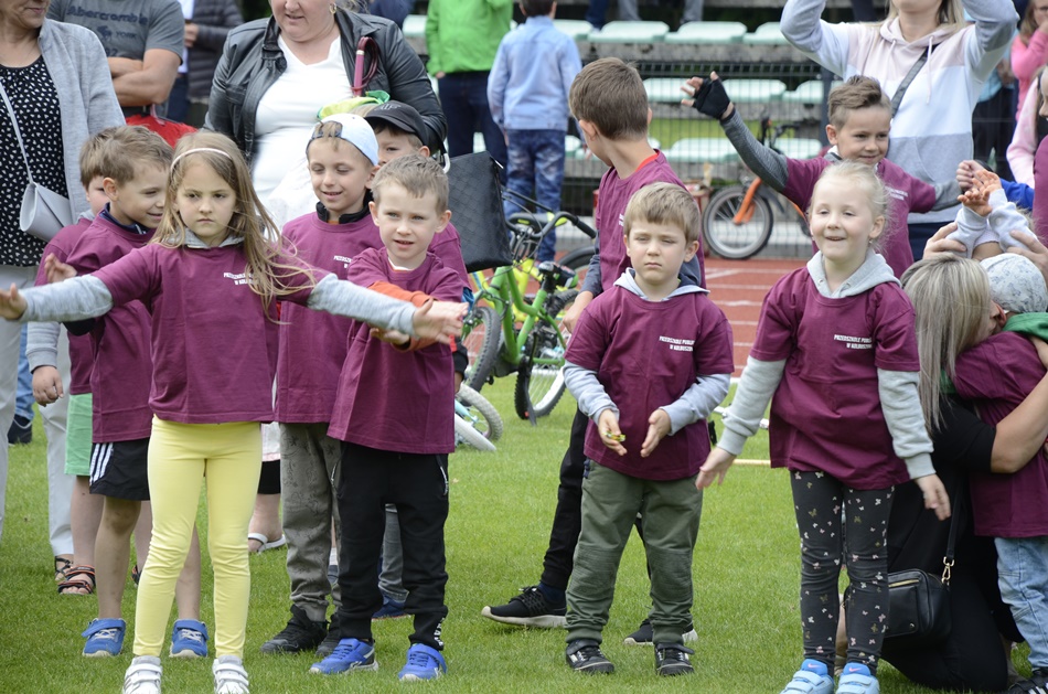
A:
<svg viewBox="0 0 1048 694">
<path fill-rule="evenodd" d="M 1030 666 L 1048 668 L 1048 536 L 996 537 L 994 545 L 1001 598 L 1030 647 Z"/>
</svg>

